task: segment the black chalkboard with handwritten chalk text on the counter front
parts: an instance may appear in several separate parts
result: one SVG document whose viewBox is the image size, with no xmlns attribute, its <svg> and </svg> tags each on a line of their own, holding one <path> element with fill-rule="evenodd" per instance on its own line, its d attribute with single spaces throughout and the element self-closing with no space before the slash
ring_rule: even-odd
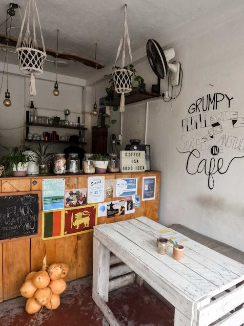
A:
<svg viewBox="0 0 244 326">
<path fill-rule="evenodd" d="M 38 234 L 38 194 L 0 196 L 0 240 Z"/>
</svg>

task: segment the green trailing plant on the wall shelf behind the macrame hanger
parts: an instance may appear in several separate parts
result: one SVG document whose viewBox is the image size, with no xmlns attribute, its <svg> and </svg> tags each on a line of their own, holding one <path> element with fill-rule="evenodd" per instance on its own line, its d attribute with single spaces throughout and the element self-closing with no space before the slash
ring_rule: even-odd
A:
<svg viewBox="0 0 244 326">
<path fill-rule="evenodd" d="M 115 69 L 120 69 L 120 67 L 115 66 Z M 134 67 L 134 65 L 130 64 L 124 67 L 124 69 L 132 71 L 131 79 L 132 79 L 132 91 L 131 93 L 141 93 L 145 91 L 145 84 L 144 80 L 140 75 L 137 75 L 137 71 Z M 103 105 L 110 107 L 110 114 L 104 113 L 102 116 L 104 118 L 109 118 L 108 124 L 105 125 L 106 128 L 109 128 L 110 125 L 116 124 L 117 120 L 112 119 L 112 111 L 118 111 L 118 106 L 112 106 L 111 101 L 118 102 L 120 99 L 120 95 L 115 92 L 114 90 L 114 80 L 113 80 L 113 74 L 105 75 L 104 77 L 109 77 L 109 86 L 105 88 L 107 96 L 105 101 L 103 102 Z"/>
</svg>

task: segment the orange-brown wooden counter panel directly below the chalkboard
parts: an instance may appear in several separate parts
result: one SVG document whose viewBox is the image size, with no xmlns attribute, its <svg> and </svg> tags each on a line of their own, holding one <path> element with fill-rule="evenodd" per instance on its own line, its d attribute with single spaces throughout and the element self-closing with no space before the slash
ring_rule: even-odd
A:
<svg viewBox="0 0 244 326">
<path fill-rule="evenodd" d="M 2 244 L 3 300 L 20 296 L 20 287 L 30 271 L 30 239 Z"/>
</svg>

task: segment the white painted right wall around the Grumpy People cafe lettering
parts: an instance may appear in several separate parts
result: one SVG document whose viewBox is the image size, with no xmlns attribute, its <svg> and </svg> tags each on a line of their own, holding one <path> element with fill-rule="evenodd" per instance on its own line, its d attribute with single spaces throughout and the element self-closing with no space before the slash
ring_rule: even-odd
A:
<svg viewBox="0 0 244 326">
<path fill-rule="evenodd" d="M 189 139 L 201 139 L 209 129 L 182 132 L 182 119 L 191 115 L 188 113 L 189 106 L 203 95 L 220 92 L 234 97 L 230 109 L 223 101 L 216 111 L 210 110 L 209 115 L 237 110 L 238 115 L 244 117 L 243 33 L 244 20 L 237 18 L 205 35 L 186 40 L 179 47 L 173 44 L 175 60 L 180 61 L 183 67 L 180 96 L 170 103 L 164 103 L 162 99 L 148 102 L 146 134 L 146 103 L 126 106 L 122 132 L 122 148 L 128 139 L 137 138 L 137 135 L 140 135 L 142 141 L 145 137 L 151 145 L 151 167 L 162 171 L 161 223 L 181 223 L 241 250 L 244 245 L 244 158 L 232 162 L 226 174 L 214 174 L 215 185 L 210 190 L 205 174 L 187 174 L 187 154 L 179 153 L 177 148 L 180 144 L 183 146 L 183 133 Z M 147 90 L 150 90 L 150 85 L 156 83 L 157 78 L 147 59 L 136 65 L 136 68 L 144 77 Z M 164 80 L 162 90 L 165 87 Z M 119 113 L 117 115 L 119 117 Z M 120 132 L 120 118 L 118 120 L 117 125 L 110 128 L 109 134 Z M 232 157 L 244 153 L 223 147 L 219 155 L 213 156 L 209 149 L 213 145 L 220 145 L 219 140 L 223 134 L 244 138 L 244 127 L 233 128 L 231 121 L 222 122 L 222 127 L 223 133 L 207 142 L 210 147 L 201 152 L 201 157 L 207 160 L 207 164 L 213 157 L 223 157 L 226 167 Z M 196 169 L 196 162 L 191 162 L 190 168 Z"/>
</svg>

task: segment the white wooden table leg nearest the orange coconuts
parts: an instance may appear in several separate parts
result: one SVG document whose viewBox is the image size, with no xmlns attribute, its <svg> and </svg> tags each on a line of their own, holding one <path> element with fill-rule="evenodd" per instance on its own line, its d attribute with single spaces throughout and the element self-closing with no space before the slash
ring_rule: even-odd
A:
<svg viewBox="0 0 244 326">
<path fill-rule="evenodd" d="M 110 251 L 95 237 L 93 237 L 93 281 L 92 288 L 108 302 L 108 283 Z"/>
</svg>

